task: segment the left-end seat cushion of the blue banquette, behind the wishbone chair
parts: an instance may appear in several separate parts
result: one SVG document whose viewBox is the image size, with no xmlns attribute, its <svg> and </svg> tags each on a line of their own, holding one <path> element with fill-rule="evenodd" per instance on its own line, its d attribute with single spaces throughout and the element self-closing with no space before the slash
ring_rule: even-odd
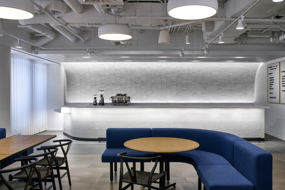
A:
<svg viewBox="0 0 285 190">
<path fill-rule="evenodd" d="M 141 152 L 132 149 L 106 149 L 102 154 L 102 162 L 121 162 L 121 159 L 118 158 L 118 154 L 122 152 L 127 152 L 125 156 L 129 157 L 151 157 L 151 153 Z"/>
</svg>

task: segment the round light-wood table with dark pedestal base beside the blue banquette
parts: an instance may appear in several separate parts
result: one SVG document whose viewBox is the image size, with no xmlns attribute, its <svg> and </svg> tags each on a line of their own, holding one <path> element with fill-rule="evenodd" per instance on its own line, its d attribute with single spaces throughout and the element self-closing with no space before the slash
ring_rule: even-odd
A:
<svg viewBox="0 0 285 190">
<path fill-rule="evenodd" d="M 159 162 L 159 172 L 164 171 L 164 153 L 177 153 L 185 152 L 196 149 L 199 147 L 199 143 L 188 139 L 171 138 L 171 137 L 147 137 L 140 139 L 132 139 L 124 143 L 125 147 L 137 151 L 160 153 L 161 162 Z M 175 186 L 176 183 L 166 186 L 169 188 Z M 160 187 L 162 187 L 162 181 L 160 181 Z M 157 188 L 159 189 L 159 188 Z"/>
</svg>

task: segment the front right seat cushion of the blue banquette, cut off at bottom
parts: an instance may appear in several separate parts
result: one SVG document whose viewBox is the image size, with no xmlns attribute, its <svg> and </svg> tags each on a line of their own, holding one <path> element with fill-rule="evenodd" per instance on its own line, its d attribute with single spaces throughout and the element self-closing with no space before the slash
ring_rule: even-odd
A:
<svg viewBox="0 0 285 190">
<path fill-rule="evenodd" d="M 207 190 L 254 190 L 253 184 L 232 165 L 201 165 L 197 174 Z"/>
</svg>

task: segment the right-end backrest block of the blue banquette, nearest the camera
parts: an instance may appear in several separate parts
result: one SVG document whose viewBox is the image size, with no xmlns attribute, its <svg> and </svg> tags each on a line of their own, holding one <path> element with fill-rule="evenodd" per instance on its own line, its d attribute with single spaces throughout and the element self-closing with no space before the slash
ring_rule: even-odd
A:
<svg viewBox="0 0 285 190">
<path fill-rule="evenodd" d="M 272 154 L 247 141 L 235 141 L 235 169 L 254 185 L 255 190 L 272 190 Z"/>
</svg>

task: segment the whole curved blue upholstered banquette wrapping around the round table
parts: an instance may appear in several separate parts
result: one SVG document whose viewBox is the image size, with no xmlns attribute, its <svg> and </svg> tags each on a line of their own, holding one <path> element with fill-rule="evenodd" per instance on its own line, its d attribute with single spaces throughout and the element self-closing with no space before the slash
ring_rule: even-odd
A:
<svg viewBox="0 0 285 190">
<path fill-rule="evenodd" d="M 102 154 L 102 162 L 119 162 L 117 154 L 121 152 L 136 157 L 156 155 L 124 147 L 124 142 L 131 139 L 183 138 L 200 146 L 191 151 L 165 154 L 164 161 L 193 165 L 199 177 L 198 189 L 202 182 L 207 190 L 272 190 L 272 154 L 229 133 L 202 129 L 110 128 L 106 137 L 107 149 Z"/>
</svg>

